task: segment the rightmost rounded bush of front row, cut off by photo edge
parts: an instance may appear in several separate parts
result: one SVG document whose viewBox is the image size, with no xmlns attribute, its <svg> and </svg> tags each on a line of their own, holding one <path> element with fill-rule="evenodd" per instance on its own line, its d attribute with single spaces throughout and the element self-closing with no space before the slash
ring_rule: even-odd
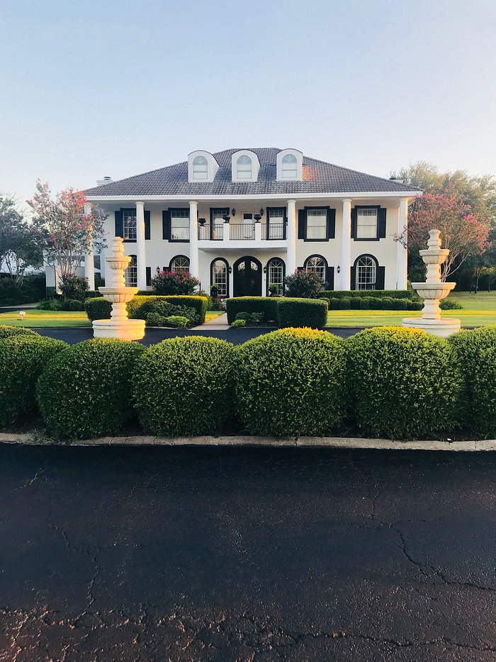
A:
<svg viewBox="0 0 496 662">
<path fill-rule="evenodd" d="M 496 326 L 449 337 L 463 375 L 459 419 L 483 436 L 496 436 Z"/>
</svg>

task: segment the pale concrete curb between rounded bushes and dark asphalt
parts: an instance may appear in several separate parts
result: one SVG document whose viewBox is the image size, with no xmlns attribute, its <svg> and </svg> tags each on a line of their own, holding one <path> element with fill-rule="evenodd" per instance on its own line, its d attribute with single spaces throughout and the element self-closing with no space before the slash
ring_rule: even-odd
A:
<svg viewBox="0 0 496 662">
<path fill-rule="evenodd" d="M 0 433 L 0 443 L 43 444 L 36 434 Z M 67 444 L 61 444 L 67 445 Z M 362 448 L 377 451 L 496 451 L 496 440 L 484 441 L 391 441 L 347 437 L 276 438 L 258 436 L 156 437 L 120 436 L 74 441 L 70 446 L 259 446 L 263 448 Z"/>
</svg>

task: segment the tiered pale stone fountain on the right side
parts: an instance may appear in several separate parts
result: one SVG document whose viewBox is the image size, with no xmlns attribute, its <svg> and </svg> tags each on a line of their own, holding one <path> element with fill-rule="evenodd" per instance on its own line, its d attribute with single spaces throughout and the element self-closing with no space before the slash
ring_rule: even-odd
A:
<svg viewBox="0 0 496 662">
<path fill-rule="evenodd" d="M 455 287 L 456 282 L 441 281 L 441 265 L 446 262 L 449 255 L 447 248 L 441 248 L 441 232 L 439 230 L 429 231 L 429 241 L 426 250 L 420 250 L 420 257 L 427 265 L 427 278 L 425 282 L 412 282 L 415 292 L 424 299 L 422 317 L 408 317 L 403 320 L 403 326 L 412 329 L 423 329 L 434 333 L 436 336 L 446 338 L 451 333 L 460 331 L 459 319 L 441 319 L 441 308 L 439 302 L 444 299 Z"/>
</svg>

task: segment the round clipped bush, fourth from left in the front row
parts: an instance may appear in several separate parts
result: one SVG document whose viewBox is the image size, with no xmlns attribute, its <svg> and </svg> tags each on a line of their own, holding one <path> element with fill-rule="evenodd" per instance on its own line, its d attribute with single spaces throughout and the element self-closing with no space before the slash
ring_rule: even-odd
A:
<svg viewBox="0 0 496 662">
<path fill-rule="evenodd" d="M 237 350 L 236 399 L 252 434 L 322 434 L 344 418 L 344 341 L 315 329 L 280 329 Z"/>
</svg>

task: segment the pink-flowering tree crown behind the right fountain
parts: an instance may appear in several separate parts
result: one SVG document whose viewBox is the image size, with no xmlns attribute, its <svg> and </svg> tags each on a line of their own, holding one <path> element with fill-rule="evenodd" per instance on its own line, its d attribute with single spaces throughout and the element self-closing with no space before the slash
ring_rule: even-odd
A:
<svg viewBox="0 0 496 662">
<path fill-rule="evenodd" d="M 490 222 L 465 204 L 452 185 L 440 194 L 426 193 L 418 197 L 410 205 L 407 237 L 397 237 L 397 241 L 407 246 L 411 265 L 419 261 L 419 250 L 427 248 L 429 230 L 433 228 L 441 231 L 442 248 L 450 250 L 441 274 L 446 280 L 470 256 L 484 252 Z"/>
</svg>

